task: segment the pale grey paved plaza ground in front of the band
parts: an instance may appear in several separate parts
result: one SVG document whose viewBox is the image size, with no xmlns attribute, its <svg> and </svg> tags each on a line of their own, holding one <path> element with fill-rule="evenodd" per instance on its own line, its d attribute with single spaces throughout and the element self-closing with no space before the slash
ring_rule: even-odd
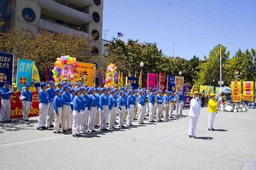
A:
<svg viewBox="0 0 256 170">
<path fill-rule="evenodd" d="M 14 119 L 0 125 L 0 169 L 256 169 L 256 109 L 218 112 L 207 130 L 201 109 L 197 139 L 182 118 L 74 138 Z"/>
</svg>

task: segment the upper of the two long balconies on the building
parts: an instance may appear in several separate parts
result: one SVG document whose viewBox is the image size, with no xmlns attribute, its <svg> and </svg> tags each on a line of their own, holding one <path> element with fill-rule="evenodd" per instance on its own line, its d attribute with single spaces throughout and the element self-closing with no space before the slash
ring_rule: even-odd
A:
<svg viewBox="0 0 256 170">
<path fill-rule="evenodd" d="M 86 1 L 86 0 L 83 0 L 83 1 Z M 63 6 L 52 0 L 40 0 L 39 5 L 41 6 L 42 10 L 47 11 L 48 13 L 66 17 L 71 20 L 77 21 L 81 24 L 93 22 L 92 16 L 90 14 L 83 13 L 75 9 Z"/>
</svg>

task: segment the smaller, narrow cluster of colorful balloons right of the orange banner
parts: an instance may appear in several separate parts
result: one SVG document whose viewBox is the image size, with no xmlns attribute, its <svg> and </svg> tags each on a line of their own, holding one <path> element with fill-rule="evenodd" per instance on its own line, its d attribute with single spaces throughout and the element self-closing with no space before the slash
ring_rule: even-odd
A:
<svg viewBox="0 0 256 170">
<path fill-rule="evenodd" d="M 115 83 L 118 79 L 116 68 L 117 67 L 112 63 L 106 68 L 106 84 L 104 87 L 117 87 L 117 84 Z"/>
</svg>

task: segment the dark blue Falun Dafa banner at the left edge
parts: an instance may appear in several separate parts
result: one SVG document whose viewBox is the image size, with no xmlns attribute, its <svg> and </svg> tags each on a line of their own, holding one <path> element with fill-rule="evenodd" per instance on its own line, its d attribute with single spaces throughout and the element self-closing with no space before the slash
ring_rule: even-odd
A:
<svg viewBox="0 0 256 170">
<path fill-rule="evenodd" d="M 0 87 L 4 86 L 5 81 L 12 84 L 14 54 L 0 53 Z"/>
</svg>

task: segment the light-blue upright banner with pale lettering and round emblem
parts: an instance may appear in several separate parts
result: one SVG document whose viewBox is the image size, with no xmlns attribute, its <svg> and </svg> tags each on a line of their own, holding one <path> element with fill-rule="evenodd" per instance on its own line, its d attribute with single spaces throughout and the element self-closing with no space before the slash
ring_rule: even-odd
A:
<svg viewBox="0 0 256 170">
<path fill-rule="evenodd" d="M 16 85 L 19 91 L 26 84 L 31 85 L 33 61 L 18 59 Z"/>
</svg>

